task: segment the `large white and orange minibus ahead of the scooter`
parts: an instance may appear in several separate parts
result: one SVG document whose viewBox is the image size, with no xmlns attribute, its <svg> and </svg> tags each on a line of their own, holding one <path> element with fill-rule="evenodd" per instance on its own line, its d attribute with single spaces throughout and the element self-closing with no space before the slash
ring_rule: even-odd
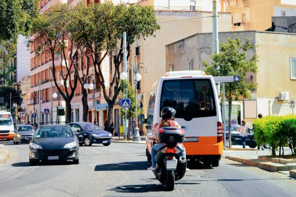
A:
<svg viewBox="0 0 296 197">
<path fill-rule="evenodd" d="M 202 161 L 205 166 L 218 166 L 223 149 L 223 130 L 213 76 L 204 71 L 186 70 L 167 72 L 160 77 L 150 92 L 147 128 L 155 128 L 152 126 L 160 122 L 160 112 L 167 106 L 176 109 L 175 120 L 185 127 L 187 159 Z M 141 123 L 143 118 L 142 115 Z M 147 137 L 149 158 L 153 144 L 149 145 L 148 140 Z"/>
</svg>

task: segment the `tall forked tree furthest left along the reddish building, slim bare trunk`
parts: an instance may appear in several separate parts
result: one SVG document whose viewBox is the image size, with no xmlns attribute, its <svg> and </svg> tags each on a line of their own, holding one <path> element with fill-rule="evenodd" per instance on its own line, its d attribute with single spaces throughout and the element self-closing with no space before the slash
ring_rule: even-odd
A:
<svg viewBox="0 0 296 197">
<path fill-rule="evenodd" d="M 56 4 L 52 8 L 52 11 L 45 12 L 42 15 L 39 15 L 33 21 L 32 33 L 35 33 L 35 36 L 40 41 L 38 44 L 36 54 L 44 53 L 46 50 L 49 50 L 52 61 L 52 74 L 54 84 L 61 94 L 62 98 L 66 102 L 66 121 L 71 121 L 71 100 L 74 97 L 75 89 L 77 87 L 78 75 L 75 72 L 74 76 L 71 75 L 70 70 L 74 64 L 78 61 L 78 53 L 74 51 L 73 45 L 70 46 L 70 51 L 68 44 L 71 43 L 71 37 L 67 32 L 67 27 L 71 22 L 69 20 L 70 7 L 68 4 Z M 58 65 L 55 65 L 55 54 L 57 51 L 61 52 L 61 64 L 60 70 L 62 72 L 62 84 L 58 83 L 56 77 L 56 68 Z M 72 57 L 70 64 L 68 65 L 68 53 Z M 65 66 L 63 66 L 63 63 Z M 65 69 L 64 69 L 65 67 Z"/>
</svg>

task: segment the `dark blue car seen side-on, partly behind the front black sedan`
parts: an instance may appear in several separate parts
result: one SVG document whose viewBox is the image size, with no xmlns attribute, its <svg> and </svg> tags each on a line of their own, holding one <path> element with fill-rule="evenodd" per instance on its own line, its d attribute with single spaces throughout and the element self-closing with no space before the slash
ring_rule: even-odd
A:
<svg viewBox="0 0 296 197">
<path fill-rule="evenodd" d="M 112 135 L 110 132 L 102 130 L 98 126 L 92 123 L 80 122 L 69 123 L 72 131 L 78 138 L 79 145 L 91 146 L 95 144 L 103 144 L 109 146 L 112 141 Z"/>
</svg>

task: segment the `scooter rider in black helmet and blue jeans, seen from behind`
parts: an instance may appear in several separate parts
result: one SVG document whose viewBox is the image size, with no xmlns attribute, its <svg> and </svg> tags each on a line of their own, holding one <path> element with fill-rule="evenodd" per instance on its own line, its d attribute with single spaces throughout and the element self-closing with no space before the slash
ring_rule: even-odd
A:
<svg viewBox="0 0 296 197">
<path fill-rule="evenodd" d="M 155 144 L 152 149 L 151 149 L 151 160 L 152 160 L 152 165 L 151 167 L 148 167 L 148 170 L 156 170 L 156 162 L 155 162 L 155 155 L 157 150 L 163 146 L 163 143 L 158 143 L 157 140 L 157 132 L 160 131 L 160 128 L 162 127 L 178 127 L 181 129 L 180 125 L 174 121 L 174 116 L 176 114 L 176 110 L 172 107 L 165 107 L 161 110 L 161 118 L 162 120 L 160 121 L 160 123 L 158 123 L 157 127 L 156 127 L 156 132 L 154 133 L 154 135 L 150 136 L 151 140 L 156 141 L 157 144 Z M 183 131 L 183 130 L 182 130 Z M 184 131 L 183 131 L 184 132 Z M 186 152 L 185 152 L 185 148 L 183 146 L 183 144 L 178 144 L 178 146 L 180 147 L 180 149 L 182 150 L 182 154 L 184 157 L 186 157 Z M 186 171 L 188 171 L 189 169 L 186 169 Z"/>
</svg>

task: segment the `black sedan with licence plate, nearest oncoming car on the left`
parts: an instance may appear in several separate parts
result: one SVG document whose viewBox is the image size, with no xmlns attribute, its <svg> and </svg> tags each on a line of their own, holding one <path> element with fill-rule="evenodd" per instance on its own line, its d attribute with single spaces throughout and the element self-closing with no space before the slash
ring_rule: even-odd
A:
<svg viewBox="0 0 296 197">
<path fill-rule="evenodd" d="M 44 125 L 37 129 L 29 144 L 30 165 L 39 161 L 73 160 L 79 164 L 79 145 L 69 125 Z"/>
</svg>

